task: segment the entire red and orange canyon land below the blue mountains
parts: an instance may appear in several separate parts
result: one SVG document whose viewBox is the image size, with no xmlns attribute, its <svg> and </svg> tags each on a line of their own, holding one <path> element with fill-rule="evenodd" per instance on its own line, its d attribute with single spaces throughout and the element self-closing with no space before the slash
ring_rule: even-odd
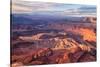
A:
<svg viewBox="0 0 100 67">
<path fill-rule="evenodd" d="M 15 24 L 11 34 L 12 67 L 96 61 L 94 17 L 44 25 Z"/>
</svg>

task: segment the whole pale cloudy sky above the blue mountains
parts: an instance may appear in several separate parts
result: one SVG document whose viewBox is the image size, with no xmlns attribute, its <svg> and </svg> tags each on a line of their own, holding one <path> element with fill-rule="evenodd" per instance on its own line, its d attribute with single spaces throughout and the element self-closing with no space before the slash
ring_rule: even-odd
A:
<svg viewBox="0 0 100 67">
<path fill-rule="evenodd" d="M 72 1 L 72 2 L 71 2 Z M 76 1 L 74 3 L 74 1 Z M 80 0 L 83 1 L 83 0 Z M 96 13 L 96 1 L 84 0 L 12 0 L 12 13 L 60 12 L 63 14 Z M 88 3 L 86 4 L 85 3 Z M 80 2 L 80 3 L 79 3 Z M 81 4 L 84 3 L 84 4 Z"/>
</svg>

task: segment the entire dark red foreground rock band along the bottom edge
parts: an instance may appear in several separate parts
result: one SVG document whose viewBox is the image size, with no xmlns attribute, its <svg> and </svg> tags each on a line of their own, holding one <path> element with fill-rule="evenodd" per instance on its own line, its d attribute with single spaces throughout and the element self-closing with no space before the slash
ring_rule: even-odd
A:
<svg viewBox="0 0 100 67">
<path fill-rule="evenodd" d="M 90 53 L 77 49 L 69 52 L 67 49 L 52 50 L 50 48 L 37 49 L 26 55 L 13 56 L 12 66 L 19 65 L 41 65 L 41 64 L 62 64 L 70 62 L 95 61 L 96 58 Z M 19 63 L 20 62 L 20 63 Z"/>
</svg>

